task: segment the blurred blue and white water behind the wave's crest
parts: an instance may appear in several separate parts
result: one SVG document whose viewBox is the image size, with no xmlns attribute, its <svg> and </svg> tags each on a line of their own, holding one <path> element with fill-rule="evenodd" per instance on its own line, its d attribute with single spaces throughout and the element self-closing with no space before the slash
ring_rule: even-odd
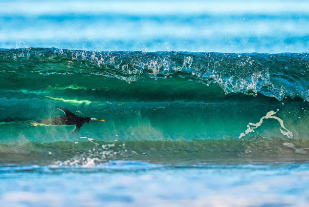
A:
<svg viewBox="0 0 309 207">
<path fill-rule="evenodd" d="M 307 52 L 307 1 L 2 1 L 0 48 Z"/>
</svg>

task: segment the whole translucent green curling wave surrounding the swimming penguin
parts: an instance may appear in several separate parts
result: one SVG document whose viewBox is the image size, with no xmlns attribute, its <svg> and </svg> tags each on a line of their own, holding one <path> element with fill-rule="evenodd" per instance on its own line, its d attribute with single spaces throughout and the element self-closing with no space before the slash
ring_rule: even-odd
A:
<svg viewBox="0 0 309 207">
<path fill-rule="evenodd" d="M 3 160 L 80 162 L 93 149 L 105 152 L 90 153 L 100 162 L 307 152 L 307 53 L 24 48 L 0 49 L 0 59 Z M 63 116 L 55 107 L 105 122 L 77 135 L 74 126 L 29 125 Z M 102 148 L 111 144 L 119 149 Z"/>
</svg>

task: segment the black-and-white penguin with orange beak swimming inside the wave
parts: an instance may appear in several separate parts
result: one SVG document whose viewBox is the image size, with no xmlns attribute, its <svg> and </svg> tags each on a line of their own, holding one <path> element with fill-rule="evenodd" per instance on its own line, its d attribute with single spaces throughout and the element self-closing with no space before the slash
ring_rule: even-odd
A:
<svg viewBox="0 0 309 207">
<path fill-rule="evenodd" d="M 89 123 L 89 121 L 104 121 L 103 119 L 90 118 L 90 117 L 79 117 L 68 109 L 62 107 L 55 107 L 64 112 L 65 116 L 54 117 L 54 118 L 45 118 L 42 120 L 29 122 L 31 126 L 61 126 L 61 125 L 75 125 L 75 129 L 70 134 L 77 134 L 79 129 L 84 123 Z"/>
</svg>

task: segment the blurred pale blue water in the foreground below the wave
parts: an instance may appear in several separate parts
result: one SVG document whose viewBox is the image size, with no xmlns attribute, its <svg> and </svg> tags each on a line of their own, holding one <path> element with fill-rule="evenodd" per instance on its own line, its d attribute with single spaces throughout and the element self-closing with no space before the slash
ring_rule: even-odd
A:
<svg viewBox="0 0 309 207">
<path fill-rule="evenodd" d="M 308 206 L 307 163 L 0 166 L 4 206 Z"/>
</svg>

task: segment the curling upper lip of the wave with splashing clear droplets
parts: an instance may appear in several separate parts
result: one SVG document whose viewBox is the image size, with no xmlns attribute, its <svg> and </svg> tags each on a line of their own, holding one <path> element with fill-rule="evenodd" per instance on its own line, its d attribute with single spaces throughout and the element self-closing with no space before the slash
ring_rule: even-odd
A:
<svg viewBox="0 0 309 207">
<path fill-rule="evenodd" d="M 173 84 L 184 79 L 205 86 L 219 86 L 225 94 L 256 96 L 260 93 L 278 100 L 284 96 L 309 100 L 307 55 L 1 49 L 1 87 L 20 92 L 27 89 L 28 93 L 69 89 L 111 90 L 114 88 L 111 85 L 115 84 L 127 87 L 124 82 L 117 81 L 124 80 L 128 83 L 139 82 L 135 85 L 138 87 L 136 90 L 147 90 L 143 87 L 145 84 L 156 85 L 160 79 L 161 86 L 155 86 L 153 91 L 164 90 L 162 85 L 165 85 L 175 92 Z M 216 93 L 218 89 L 214 88 Z M 118 90 L 120 93 L 126 92 L 122 88 Z M 150 91 L 147 90 L 147 93 Z"/>
</svg>

